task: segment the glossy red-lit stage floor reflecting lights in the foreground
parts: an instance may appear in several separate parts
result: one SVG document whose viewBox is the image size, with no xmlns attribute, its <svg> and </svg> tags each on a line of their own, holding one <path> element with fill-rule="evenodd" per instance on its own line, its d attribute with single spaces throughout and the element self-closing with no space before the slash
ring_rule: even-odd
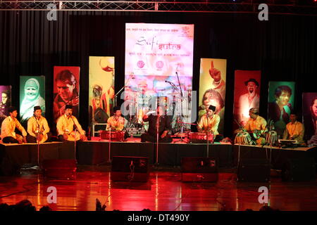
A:
<svg viewBox="0 0 317 225">
<path fill-rule="evenodd" d="M 317 182 L 285 183 L 271 178 L 271 183 L 237 183 L 232 171 L 220 171 L 217 183 L 184 183 L 178 169 L 151 169 L 147 183 L 113 182 L 107 167 L 79 168 L 77 179 L 44 180 L 42 174 L 25 170 L 21 176 L 3 176 L 0 203 L 9 205 L 28 199 L 39 210 L 49 205 L 53 210 L 95 210 L 98 198 L 106 211 L 219 211 L 251 209 L 258 211 L 258 188 L 270 189 L 269 205 L 279 210 L 317 210 Z M 46 189 L 57 189 L 57 203 L 48 204 Z"/>
</svg>

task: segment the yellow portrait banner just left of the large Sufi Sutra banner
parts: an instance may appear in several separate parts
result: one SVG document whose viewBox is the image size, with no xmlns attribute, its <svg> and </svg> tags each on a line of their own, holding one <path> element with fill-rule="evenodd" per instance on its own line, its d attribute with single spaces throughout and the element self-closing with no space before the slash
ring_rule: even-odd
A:
<svg viewBox="0 0 317 225">
<path fill-rule="evenodd" d="M 113 56 L 89 56 L 89 124 L 106 123 L 113 114 L 114 61 Z"/>
</svg>

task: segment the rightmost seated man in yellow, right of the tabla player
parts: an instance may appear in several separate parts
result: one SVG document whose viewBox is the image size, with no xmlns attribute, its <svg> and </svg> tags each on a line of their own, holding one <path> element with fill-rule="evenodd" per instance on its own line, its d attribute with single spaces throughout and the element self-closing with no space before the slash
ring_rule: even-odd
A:
<svg viewBox="0 0 317 225">
<path fill-rule="evenodd" d="M 298 143 L 304 143 L 304 125 L 297 121 L 297 115 L 295 113 L 290 114 L 290 121 L 291 122 L 286 125 L 283 139 L 295 140 Z"/>
</svg>

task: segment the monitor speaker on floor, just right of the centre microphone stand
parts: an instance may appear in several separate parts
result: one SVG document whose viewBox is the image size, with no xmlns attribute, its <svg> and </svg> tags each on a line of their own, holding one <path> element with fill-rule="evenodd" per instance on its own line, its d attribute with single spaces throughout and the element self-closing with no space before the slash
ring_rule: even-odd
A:
<svg viewBox="0 0 317 225">
<path fill-rule="evenodd" d="M 218 162 L 215 158 L 183 157 L 182 181 L 216 182 L 218 181 Z"/>
</svg>

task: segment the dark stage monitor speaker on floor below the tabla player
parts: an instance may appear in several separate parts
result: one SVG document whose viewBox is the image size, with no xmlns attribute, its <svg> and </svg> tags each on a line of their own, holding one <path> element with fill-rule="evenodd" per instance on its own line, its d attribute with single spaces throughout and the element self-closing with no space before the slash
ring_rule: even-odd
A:
<svg viewBox="0 0 317 225">
<path fill-rule="evenodd" d="M 265 159 L 244 159 L 240 161 L 237 180 L 243 182 L 269 182 L 271 165 Z"/>
</svg>

